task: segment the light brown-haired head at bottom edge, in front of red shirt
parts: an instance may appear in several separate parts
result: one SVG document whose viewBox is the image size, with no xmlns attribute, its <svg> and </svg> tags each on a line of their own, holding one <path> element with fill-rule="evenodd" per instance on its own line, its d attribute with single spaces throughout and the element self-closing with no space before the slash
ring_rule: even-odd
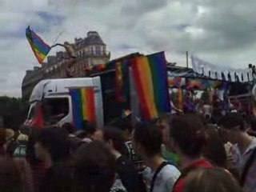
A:
<svg viewBox="0 0 256 192">
<path fill-rule="evenodd" d="M 185 180 L 184 192 L 242 192 L 236 179 L 221 168 L 192 171 Z"/>
</svg>

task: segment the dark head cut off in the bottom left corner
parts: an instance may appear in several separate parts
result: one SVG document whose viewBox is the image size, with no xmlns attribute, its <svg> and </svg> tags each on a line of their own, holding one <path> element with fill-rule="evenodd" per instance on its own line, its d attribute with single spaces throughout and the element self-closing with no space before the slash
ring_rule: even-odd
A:
<svg viewBox="0 0 256 192">
<path fill-rule="evenodd" d="M 2 192 L 25 192 L 22 175 L 10 158 L 0 158 L 0 189 Z"/>
</svg>

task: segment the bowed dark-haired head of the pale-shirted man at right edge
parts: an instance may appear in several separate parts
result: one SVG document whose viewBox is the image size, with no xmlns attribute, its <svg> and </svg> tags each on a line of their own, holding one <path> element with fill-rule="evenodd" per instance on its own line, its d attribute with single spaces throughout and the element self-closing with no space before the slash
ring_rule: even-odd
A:
<svg viewBox="0 0 256 192">
<path fill-rule="evenodd" d="M 228 142 L 237 143 L 240 136 L 246 133 L 246 123 L 238 113 L 226 114 L 220 119 L 219 125 L 225 131 Z"/>
</svg>

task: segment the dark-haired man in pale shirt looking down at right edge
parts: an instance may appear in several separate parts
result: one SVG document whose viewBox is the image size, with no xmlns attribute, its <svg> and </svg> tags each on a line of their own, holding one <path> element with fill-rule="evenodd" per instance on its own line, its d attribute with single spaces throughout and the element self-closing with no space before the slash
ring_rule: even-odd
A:
<svg viewBox="0 0 256 192">
<path fill-rule="evenodd" d="M 228 142 L 234 144 L 233 159 L 240 183 L 246 192 L 256 192 L 256 138 L 246 133 L 246 124 L 238 113 L 226 114 L 221 119 Z"/>
</svg>

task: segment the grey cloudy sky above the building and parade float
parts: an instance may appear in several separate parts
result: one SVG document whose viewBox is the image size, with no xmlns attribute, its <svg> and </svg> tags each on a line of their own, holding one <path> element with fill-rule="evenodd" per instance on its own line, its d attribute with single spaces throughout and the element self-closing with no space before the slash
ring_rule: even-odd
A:
<svg viewBox="0 0 256 192">
<path fill-rule="evenodd" d="M 49 44 L 97 30 L 112 58 L 165 50 L 185 66 L 187 50 L 243 68 L 256 61 L 255 9 L 255 0 L 0 0 L 0 95 L 20 97 L 26 70 L 38 66 L 26 26 Z"/>
</svg>

